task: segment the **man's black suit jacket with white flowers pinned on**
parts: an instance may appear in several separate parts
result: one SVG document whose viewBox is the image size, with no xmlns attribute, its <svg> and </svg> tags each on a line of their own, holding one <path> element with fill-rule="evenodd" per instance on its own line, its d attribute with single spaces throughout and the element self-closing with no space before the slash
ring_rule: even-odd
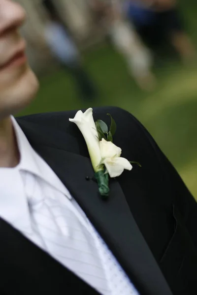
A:
<svg viewBox="0 0 197 295">
<path fill-rule="evenodd" d="M 18 118 L 33 148 L 63 181 L 140 295 L 197 294 L 197 203 L 147 130 L 119 108 L 94 109 L 117 123 L 114 143 L 140 162 L 110 179 L 101 200 L 76 111 Z M 0 294 L 98 294 L 0 219 Z"/>
</svg>

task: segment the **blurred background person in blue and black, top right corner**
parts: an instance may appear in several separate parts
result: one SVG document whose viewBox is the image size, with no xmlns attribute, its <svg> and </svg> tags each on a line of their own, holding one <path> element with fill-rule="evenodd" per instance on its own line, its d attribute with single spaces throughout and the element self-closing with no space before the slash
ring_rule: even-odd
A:
<svg viewBox="0 0 197 295">
<path fill-rule="evenodd" d="M 184 62 L 196 59 L 196 50 L 184 30 L 176 0 L 126 0 L 125 9 L 146 44 L 157 48 L 170 41 Z"/>
</svg>

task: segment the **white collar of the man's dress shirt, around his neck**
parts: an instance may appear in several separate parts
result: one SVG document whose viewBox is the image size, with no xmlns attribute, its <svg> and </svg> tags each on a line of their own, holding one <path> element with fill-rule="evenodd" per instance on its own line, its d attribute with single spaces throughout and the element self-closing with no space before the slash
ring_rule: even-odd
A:
<svg viewBox="0 0 197 295">
<path fill-rule="evenodd" d="M 72 200 L 72 197 L 51 167 L 34 151 L 15 118 L 11 117 L 11 120 L 20 162 L 14 168 L 0 168 L 0 217 L 14 227 L 32 234 L 27 196 L 22 181 L 23 172 L 40 177 L 69 200 Z"/>
</svg>

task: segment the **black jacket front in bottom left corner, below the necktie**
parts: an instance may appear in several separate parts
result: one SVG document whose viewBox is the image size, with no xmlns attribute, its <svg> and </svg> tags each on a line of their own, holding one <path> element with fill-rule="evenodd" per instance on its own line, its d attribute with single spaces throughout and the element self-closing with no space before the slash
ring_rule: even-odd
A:
<svg viewBox="0 0 197 295">
<path fill-rule="evenodd" d="M 77 275 L 0 219 L 0 294 L 99 295 Z"/>
</svg>

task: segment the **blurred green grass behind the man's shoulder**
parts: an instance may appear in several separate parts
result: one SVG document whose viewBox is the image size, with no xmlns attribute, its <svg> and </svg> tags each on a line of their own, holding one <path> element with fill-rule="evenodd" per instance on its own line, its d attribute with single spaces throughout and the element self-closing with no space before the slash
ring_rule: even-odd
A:
<svg viewBox="0 0 197 295">
<path fill-rule="evenodd" d="M 185 27 L 197 45 L 197 2 L 180 1 Z M 94 102 L 80 100 L 69 75 L 58 70 L 40 79 L 40 91 L 24 114 L 115 105 L 137 117 L 149 130 L 197 199 L 197 64 L 175 59 L 155 65 L 158 86 L 151 93 L 138 89 L 124 60 L 103 44 L 84 54 L 85 66 L 99 88 Z"/>
</svg>

